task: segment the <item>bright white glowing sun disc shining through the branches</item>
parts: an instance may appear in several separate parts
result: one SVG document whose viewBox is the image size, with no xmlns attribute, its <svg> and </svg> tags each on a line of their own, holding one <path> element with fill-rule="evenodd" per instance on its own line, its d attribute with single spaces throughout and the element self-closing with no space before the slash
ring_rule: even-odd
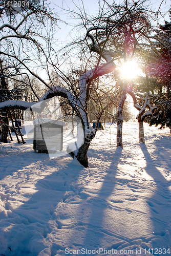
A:
<svg viewBox="0 0 171 256">
<path fill-rule="evenodd" d="M 141 71 L 138 68 L 137 62 L 135 60 L 127 61 L 121 67 L 122 77 L 127 79 L 133 79 L 140 73 Z"/>
</svg>

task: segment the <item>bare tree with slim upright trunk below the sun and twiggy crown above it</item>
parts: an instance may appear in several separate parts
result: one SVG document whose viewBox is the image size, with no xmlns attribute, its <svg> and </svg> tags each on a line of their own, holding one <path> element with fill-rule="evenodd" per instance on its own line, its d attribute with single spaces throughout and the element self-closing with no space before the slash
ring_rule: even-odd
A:
<svg viewBox="0 0 171 256">
<path fill-rule="evenodd" d="M 132 60 L 139 56 L 141 43 L 144 35 L 152 31 L 149 22 L 149 12 L 145 1 L 129 3 L 126 1 L 121 5 L 115 2 L 108 5 L 108 9 L 101 8 L 99 15 L 88 19 L 87 15 L 81 15 L 84 27 L 87 28 L 87 37 L 91 44 L 87 43 L 90 50 L 100 55 L 97 63 L 102 58 L 107 61 L 115 61 L 116 66 Z M 88 28 L 88 26 L 90 26 Z M 98 64 L 97 64 L 98 65 Z M 116 76 L 117 72 L 115 72 Z M 118 104 L 117 112 L 117 146 L 123 147 L 122 143 L 122 111 L 126 99 L 126 88 L 129 81 L 124 79 L 121 84 L 122 94 Z"/>
</svg>

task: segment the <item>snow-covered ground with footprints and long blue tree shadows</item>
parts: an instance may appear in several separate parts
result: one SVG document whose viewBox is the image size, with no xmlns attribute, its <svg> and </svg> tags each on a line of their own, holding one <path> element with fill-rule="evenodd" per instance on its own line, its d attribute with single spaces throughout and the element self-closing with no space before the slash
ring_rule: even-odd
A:
<svg viewBox="0 0 171 256">
<path fill-rule="evenodd" d="M 144 124 L 140 145 L 138 122 L 123 122 L 122 150 L 109 126 L 90 145 L 89 168 L 35 153 L 32 139 L 1 144 L 1 255 L 169 255 L 170 131 Z"/>
</svg>

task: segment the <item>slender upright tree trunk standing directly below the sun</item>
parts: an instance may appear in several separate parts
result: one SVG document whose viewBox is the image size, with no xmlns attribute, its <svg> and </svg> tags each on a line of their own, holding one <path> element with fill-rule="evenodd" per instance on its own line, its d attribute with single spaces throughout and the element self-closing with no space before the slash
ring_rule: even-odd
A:
<svg viewBox="0 0 171 256">
<path fill-rule="evenodd" d="M 117 118 L 117 147 L 120 146 L 123 148 L 123 143 L 122 143 L 122 124 L 123 124 L 123 117 L 122 117 L 122 111 L 123 111 L 123 104 L 126 99 L 126 86 L 123 86 L 123 92 L 122 96 L 119 101 L 118 105 L 118 118 Z"/>
</svg>

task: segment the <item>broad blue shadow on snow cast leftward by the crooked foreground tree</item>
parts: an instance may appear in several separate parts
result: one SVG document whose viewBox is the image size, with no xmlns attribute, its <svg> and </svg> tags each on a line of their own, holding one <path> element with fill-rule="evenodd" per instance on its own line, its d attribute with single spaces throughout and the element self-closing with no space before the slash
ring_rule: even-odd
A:
<svg viewBox="0 0 171 256">
<path fill-rule="evenodd" d="M 44 157 L 47 159 L 46 155 Z M 53 160 L 47 159 L 44 165 L 41 163 L 40 170 L 41 167 L 43 170 L 35 177 L 33 173 L 31 174 L 36 181 L 35 184 L 29 183 L 30 173 L 25 174 L 23 186 L 18 187 L 18 196 L 24 196 L 24 201 L 19 207 L 16 205 L 17 199 L 15 201 L 10 198 L 13 195 L 4 199 L 7 216 L 5 212 L 2 212 L 0 255 L 37 256 L 43 250 L 45 251 L 42 255 L 56 254 L 51 253 L 51 245 L 56 241 L 46 243 L 47 235 L 53 230 L 59 231 L 57 241 L 60 240 L 60 223 L 55 209 L 60 207 L 60 204 L 68 197 L 73 196 L 72 182 L 77 179 L 76 177 L 84 170 L 84 167 L 76 164 L 68 156 Z M 50 175 L 48 175 L 50 170 Z M 17 197 L 17 194 L 15 196 Z M 22 202 L 22 198 L 18 201 Z M 55 231 L 53 233 L 56 235 Z M 55 246 L 54 251 L 65 250 L 65 247 L 61 245 Z"/>
</svg>

